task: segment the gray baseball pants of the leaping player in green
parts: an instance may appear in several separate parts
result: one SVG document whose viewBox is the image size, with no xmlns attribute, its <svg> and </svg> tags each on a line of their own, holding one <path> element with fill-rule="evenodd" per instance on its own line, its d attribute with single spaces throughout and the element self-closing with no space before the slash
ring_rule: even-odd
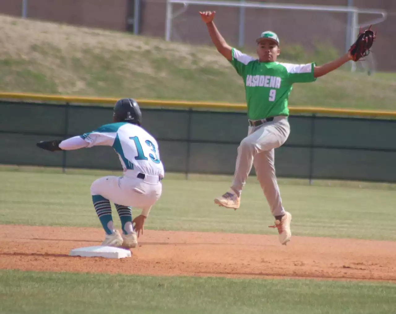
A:
<svg viewBox="0 0 396 314">
<path fill-rule="evenodd" d="M 257 180 L 260 182 L 274 216 L 285 213 L 276 181 L 274 149 L 282 146 L 289 134 L 290 125 L 287 117 L 276 116 L 273 121 L 265 122 L 259 126 L 249 126 L 247 137 L 238 147 L 232 190 L 238 196 L 241 195 L 247 176 L 254 165 Z"/>
</svg>

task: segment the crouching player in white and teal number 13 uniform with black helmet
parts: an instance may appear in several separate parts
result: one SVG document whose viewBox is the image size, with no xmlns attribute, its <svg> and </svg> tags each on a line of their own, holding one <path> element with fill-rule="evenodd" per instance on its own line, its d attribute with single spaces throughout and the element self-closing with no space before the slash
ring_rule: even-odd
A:
<svg viewBox="0 0 396 314">
<path fill-rule="evenodd" d="M 143 234 L 145 219 L 162 193 L 164 166 L 158 143 L 141 127 L 141 119 L 138 103 L 124 98 L 114 105 L 113 123 L 67 140 L 37 143 L 48 151 L 111 146 L 118 154 L 123 176 L 105 176 L 91 185 L 93 206 L 106 233 L 104 246 L 137 247 L 137 237 L 140 232 Z M 110 201 L 120 217 L 122 234 L 114 229 Z M 131 207 L 142 209 L 133 221 Z"/>
</svg>

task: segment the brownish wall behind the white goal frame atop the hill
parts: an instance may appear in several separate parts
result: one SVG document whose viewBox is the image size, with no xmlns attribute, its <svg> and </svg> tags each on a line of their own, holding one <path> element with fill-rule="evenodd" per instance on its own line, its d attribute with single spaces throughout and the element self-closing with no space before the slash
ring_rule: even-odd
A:
<svg viewBox="0 0 396 314">
<path fill-rule="evenodd" d="M 291 3 L 292 1 L 284 1 Z M 312 4 L 312 0 L 293 1 Z M 315 4 L 346 5 L 348 0 L 316 0 Z M 1 0 L 0 13 L 21 16 L 22 0 Z M 118 31 L 131 31 L 128 17 L 133 16 L 133 0 L 28 0 L 28 17 L 84 25 Z M 396 1 L 354 0 L 354 6 L 388 11 L 385 22 L 376 25 L 378 38 L 373 47 L 377 69 L 396 71 L 393 50 L 396 48 L 393 31 L 396 29 Z M 181 6 L 174 6 L 178 10 Z M 226 40 L 238 43 L 238 8 L 189 6 L 187 11 L 173 21 L 172 40 L 191 44 L 211 44 L 202 25 L 198 11 L 215 10 L 216 23 Z M 164 38 L 166 0 L 142 0 L 140 32 L 146 36 Z M 360 15 L 360 21 L 372 19 Z M 320 13 L 310 11 L 246 9 L 245 45 L 254 46 L 255 38 L 264 30 L 275 31 L 281 45 L 302 44 L 312 48 L 313 40 L 329 40 L 341 52 L 345 51 L 346 13 Z"/>
</svg>

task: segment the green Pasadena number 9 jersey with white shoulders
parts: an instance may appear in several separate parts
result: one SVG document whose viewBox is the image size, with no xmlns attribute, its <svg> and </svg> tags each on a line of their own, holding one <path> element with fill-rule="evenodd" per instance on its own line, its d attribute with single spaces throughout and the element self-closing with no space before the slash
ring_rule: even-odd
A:
<svg viewBox="0 0 396 314">
<path fill-rule="evenodd" d="M 293 83 L 316 80 L 315 63 L 259 62 L 235 48 L 232 48 L 230 63 L 244 80 L 247 117 L 250 120 L 288 116 L 287 100 Z"/>
</svg>

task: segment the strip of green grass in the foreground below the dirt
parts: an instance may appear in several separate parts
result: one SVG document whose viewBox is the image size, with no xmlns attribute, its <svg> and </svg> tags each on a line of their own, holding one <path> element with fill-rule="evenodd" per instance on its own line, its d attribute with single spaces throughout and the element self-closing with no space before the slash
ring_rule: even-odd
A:
<svg viewBox="0 0 396 314">
<path fill-rule="evenodd" d="M 0 313 L 15 314 L 389 314 L 395 295 L 390 283 L 0 270 Z"/>
</svg>

